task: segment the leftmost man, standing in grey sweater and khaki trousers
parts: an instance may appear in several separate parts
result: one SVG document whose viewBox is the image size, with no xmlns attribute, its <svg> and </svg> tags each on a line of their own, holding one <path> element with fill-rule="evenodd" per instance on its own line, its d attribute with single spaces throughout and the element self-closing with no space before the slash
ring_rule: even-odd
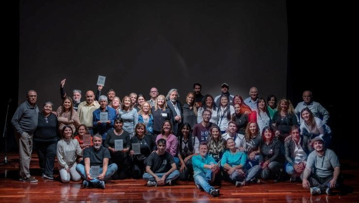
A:
<svg viewBox="0 0 359 203">
<path fill-rule="evenodd" d="M 19 178 L 23 182 L 36 183 L 30 175 L 31 153 L 33 152 L 33 132 L 37 127 L 39 108 L 36 105 L 37 93 L 29 90 L 26 101 L 21 103 L 11 119 L 15 128 L 16 143 L 19 147 Z"/>
</svg>

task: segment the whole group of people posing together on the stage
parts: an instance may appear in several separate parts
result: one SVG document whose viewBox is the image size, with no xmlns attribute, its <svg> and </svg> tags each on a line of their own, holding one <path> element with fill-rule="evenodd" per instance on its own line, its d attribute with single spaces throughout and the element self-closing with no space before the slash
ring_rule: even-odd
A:
<svg viewBox="0 0 359 203">
<path fill-rule="evenodd" d="M 83 187 L 105 188 L 109 178 L 143 178 L 147 186 L 172 185 L 179 178 L 218 196 L 212 183 L 240 187 L 260 178 L 278 181 L 284 172 L 291 181 L 302 179 L 311 194 L 338 187 L 338 157 L 327 149 L 329 113 L 310 91 L 294 109 L 286 98 L 277 105 L 270 95 L 266 102 L 256 87 L 245 100 L 230 95 L 227 83 L 215 98 L 194 84 L 184 105 L 177 89 L 164 96 L 152 87 L 148 101 L 136 93 L 120 101 L 114 89 L 105 96 L 98 86 L 96 96 L 89 90 L 81 102 L 81 90 L 70 98 L 64 85 L 65 80 L 56 111 L 45 102 L 40 112 L 37 93 L 30 90 L 12 118 L 24 182 L 37 182 L 29 170 L 34 144 L 42 177 L 54 178 L 57 156 L 62 182 L 83 179 Z"/>
</svg>

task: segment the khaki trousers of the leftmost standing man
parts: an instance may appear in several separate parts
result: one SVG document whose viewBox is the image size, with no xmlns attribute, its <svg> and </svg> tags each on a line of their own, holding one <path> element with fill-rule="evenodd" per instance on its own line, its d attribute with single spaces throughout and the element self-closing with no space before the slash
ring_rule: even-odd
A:
<svg viewBox="0 0 359 203">
<path fill-rule="evenodd" d="M 16 143 L 19 147 L 19 177 L 30 177 L 30 161 L 33 152 L 33 133 L 15 132 Z"/>
</svg>

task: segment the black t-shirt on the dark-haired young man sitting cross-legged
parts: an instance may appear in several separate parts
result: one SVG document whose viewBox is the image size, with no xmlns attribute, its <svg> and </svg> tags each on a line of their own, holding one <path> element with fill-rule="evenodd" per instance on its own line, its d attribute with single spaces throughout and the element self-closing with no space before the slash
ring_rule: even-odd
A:
<svg viewBox="0 0 359 203">
<path fill-rule="evenodd" d="M 174 163 L 173 157 L 170 153 L 165 152 L 163 155 L 159 156 L 156 152 L 149 155 L 147 160 L 147 166 L 151 167 L 151 171 L 155 174 L 166 173 L 169 171 Z"/>
</svg>

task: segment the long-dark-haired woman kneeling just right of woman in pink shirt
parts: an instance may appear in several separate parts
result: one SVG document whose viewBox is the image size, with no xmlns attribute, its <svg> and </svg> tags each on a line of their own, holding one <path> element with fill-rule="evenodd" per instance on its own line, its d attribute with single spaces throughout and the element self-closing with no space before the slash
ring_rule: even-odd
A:
<svg viewBox="0 0 359 203">
<path fill-rule="evenodd" d="M 198 154 L 199 141 L 196 136 L 191 136 L 191 126 L 183 123 L 179 130 L 178 158 L 181 163 L 179 168 L 179 179 L 188 180 L 193 172 L 192 157 Z"/>
</svg>

